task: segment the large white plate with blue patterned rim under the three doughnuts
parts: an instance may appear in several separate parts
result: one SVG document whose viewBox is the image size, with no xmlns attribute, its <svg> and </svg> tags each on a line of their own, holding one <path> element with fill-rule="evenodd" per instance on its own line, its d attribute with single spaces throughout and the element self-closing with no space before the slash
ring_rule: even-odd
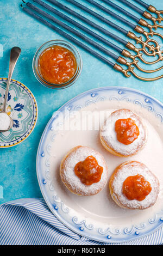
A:
<svg viewBox="0 0 163 256">
<path fill-rule="evenodd" d="M 64 130 L 62 132 L 56 129 L 61 126 L 61 122 L 64 124 L 67 113 L 73 115 L 74 111 L 79 113 L 84 112 L 84 109 L 100 111 L 102 106 L 111 110 L 123 107 L 133 111 L 135 109 L 136 113 L 142 115 L 149 125 L 146 147 L 135 156 L 126 159 L 113 156 L 102 147 L 98 142 L 99 131 Z M 106 243 L 139 239 L 161 227 L 163 224 L 162 125 L 163 105 L 153 97 L 134 89 L 96 88 L 68 101 L 49 120 L 37 150 L 37 179 L 49 209 L 75 233 Z M 68 191 L 60 180 L 60 161 L 68 150 L 82 144 L 103 154 L 110 175 L 114 168 L 124 161 L 135 160 L 145 163 L 160 181 L 160 194 L 156 204 L 146 210 L 120 208 L 111 199 L 108 185 L 103 191 L 91 197 L 80 197 Z"/>
</svg>

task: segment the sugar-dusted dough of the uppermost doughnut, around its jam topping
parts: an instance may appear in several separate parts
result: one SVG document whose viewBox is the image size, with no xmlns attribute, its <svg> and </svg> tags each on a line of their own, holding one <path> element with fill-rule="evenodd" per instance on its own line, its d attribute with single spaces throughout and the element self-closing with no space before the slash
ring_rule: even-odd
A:
<svg viewBox="0 0 163 256">
<path fill-rule="evenodd" d="M 115 124 L 118 119 L 132 119 L 139 129 L 139 136 L 130 144 L 126 145 L 118 141 Z M 117 156 L 135 155 L 147 142 L 147 130 L 141 118 L 129 109 L 118 109 L 106 119 L 100 131 L 101 143 L 106 150 Z"/>
</svg>

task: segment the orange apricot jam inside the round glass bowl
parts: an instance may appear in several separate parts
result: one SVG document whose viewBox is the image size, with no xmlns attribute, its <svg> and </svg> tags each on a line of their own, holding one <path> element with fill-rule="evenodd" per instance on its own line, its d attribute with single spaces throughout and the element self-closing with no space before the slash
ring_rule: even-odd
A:
<svg viewBox="0 0 163 256">
<path fill-rule="evenodd" d="M 39 57 L 39 72 L 49 83 L 66 83 L 73 77 L 76 69 L 74 54 L 58 45 L 47 48 Z"/>
</svg>

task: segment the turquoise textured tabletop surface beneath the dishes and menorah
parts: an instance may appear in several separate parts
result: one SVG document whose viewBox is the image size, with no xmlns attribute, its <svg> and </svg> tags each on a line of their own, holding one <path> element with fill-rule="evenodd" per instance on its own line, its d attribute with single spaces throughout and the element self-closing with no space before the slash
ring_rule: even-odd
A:
<svg viewBox="0 0 163 256">
<path fill-rule="evenodd" d="M 99 0 L 96 1 L 98 3 L 102 3 L 102 1 Z M 33 1 L 29 2 L 33 3 Z M 45 2 L 48 3 L 46 0 Z M 78 11 L 80 14 L 85 15 L 90 20 L 97 22 L 99 25 L 109 29 L 109 31 L 116 33 L 118 36 L 121 36 L 123 39 L 128 41 L 128 39 L 120 32 L 117 32 L 108 25 L 105 25 L 103 22 L 98 21 L 95 17 L 84 13 L 82 10 L 79 10 L 67 1 L 61 0 L 59 2 L 66 4 L 68 7 Z M 98 10 L 86 1 L 78 0 L 78 2 L 83 3 L 92 10 L 98 11 L 98 13 L 105 17 L 108 16 L 103 11 Z M 114 2 L 121 5 L 124 9 L 129 10 L 137 17 L 141 17 L 139 14 L 131 11 L 129 8 L 121 4 L 120 1 L 114 0 Z M 134 0 L 130 0 L 130 2 L 134 3 Z M 21 0 L 1 0 L 0 2 L 0 77 L 8 76 L 10 49 L 13 46 L 21 47 L 21 57 L 16 64 L 12 78 L 22 82 L 32 90 L 39 108 L 39 117 L 32 135 L 30 135 L 26 141 L 13 148 L 0 149 L 0 203 L 17 198 L 42 197 L 37 182 L 35 168 L 37 147 L 39 145 L 42 132 L 53 112 L 72 97 L 92 88 L 122 86 L 141 90 L 142 92 L 148 93 L 163 102 L 163 79 L 155 82 L 142 82 L 133 76 L 126 78 L 121 73 L 112 70 L 108 65 L 102 63 L 100 60 L 91 56 L 78 46 L 77 48 L 83 59 L 83 70 L 78 81 L 72 87 L 63 90 L 54 90 L 43 87 L 39 82 L 37 82 L 32 71 L 32 59 L 34 53 L 41 44 L 48 40 L 65 38 L 33 19 L 33 17 L 24 13 L 20 7 L 21 3 Z M 159 10 L 163 10 L 162 0 L 146 0 L 146 3 L 154 5 Z M 106 4 L 102 4 L 107 7 Z M 143 7 L 137 3 L 135 3 L 135 5 L 143 9 Z M 37 6 L 39 7 L 39 5 Z M 109 9 L 112 8 L 109 7 Z M 65 12 L 63 11 L 63 13 Z M 71 15 L 68 16 L 71 17 Z M 122 16 L 125 17 L 124 15 Z M 116 22 L 115 19 L 112 19 L 110 16 L 108 17 L 110 20 Z M 134 21 L 132 22 L 135 23 Z M 150 23 L 150 21 L 148 22 Z M 123 26 L 120 22 L 117 22 L 117 25 Z M 123 27 L 127 29 L 126 26 Z M 95 29 L 92 29 L 92 31 L 97 32 Z M 132 29 L 130 29 L 130 31 L 132 31 Z M 158 31 L 163 34 L 162 29 L 159 29 Z M 107 36 L 104 37 L 109 39 Z M 109 40 L 113 41 L 112 39 Z M 98 42 L 96 39 L 95 41 Z M 134 41 L 130 41 L 135 44 Z M 159 42 L 160 44 L 162 43 L 161 41 Z M 117 42 L 116 44 L 123 47 Z M 101 45 L 103 44 L 101 43 Z M 109 47 L 106 48 L 109 49 Z M 117 52 L 115 53 L 117 54 Z M 109 59 L 111 60 L 111 58 Z M 160 63 L 150 68 L 157 68 L 158 66 L 160 66 Z M 161 74 L 161 71 L 159 74 Z M 147 77 L 148 76 L 151 75 L 147 75 Z"/>
</svg>

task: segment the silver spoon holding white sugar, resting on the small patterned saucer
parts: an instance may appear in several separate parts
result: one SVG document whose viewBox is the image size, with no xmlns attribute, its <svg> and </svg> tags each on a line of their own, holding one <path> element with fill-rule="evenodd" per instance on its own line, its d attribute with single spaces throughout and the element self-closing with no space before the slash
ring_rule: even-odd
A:
<svg viewBox="0 0 163 256">
<path fill-rule="evenodd" d="M 16 62 L 17 62 L 18 57 L 20 56 L 20 54 L 21 54 L 21 48 L 13 47 L 11 49 L 8 82 L 7 82 L 7 87 L 6 87 L 6 90 L 5 90 L 5 96 L 4 96 L 4 102 L 3 102 L 3 106 L 2 106 L 2 111 L 0 112 L 0 114 L 1 113 L 7 114 L 6 106 L 7 106 L 7 100 L 8 100 L 8 93 L 9 93 L 11 77 L 12 77 L 12 73 L 14 71 Z M 9 131 L 12 128 L 12 126 L 14 125 L 13 119 L 10 116 L 9 116 L 9 118 L 10 118 L 10 126 L 9 126 L 9 128 L 7 130 L 0 130 L 0 132 Z"/>
</svg>

